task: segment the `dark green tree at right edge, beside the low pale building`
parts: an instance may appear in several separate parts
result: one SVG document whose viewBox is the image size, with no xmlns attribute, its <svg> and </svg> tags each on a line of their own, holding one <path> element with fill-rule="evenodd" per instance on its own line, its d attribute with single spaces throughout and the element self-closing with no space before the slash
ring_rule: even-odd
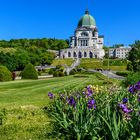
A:
<svg viewBox="0 0 140 140">
<path fill-rule="evenodd" d="M 140 41 L 136 41 L 135 44 L 132 45 L 128 60 L 131 62 L 131 68 L 128 66 L 130 70 L 133 69 L 135 72 L 140 70 Z"/>
</svg>

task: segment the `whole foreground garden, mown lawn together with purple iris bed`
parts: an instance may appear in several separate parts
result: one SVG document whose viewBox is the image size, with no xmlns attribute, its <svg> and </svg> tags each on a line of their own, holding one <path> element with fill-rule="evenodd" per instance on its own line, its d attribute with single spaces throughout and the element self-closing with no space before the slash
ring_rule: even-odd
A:
<svg viewBox="0 0 140 140">
<path fill-rule="evenodd" d="M 137 139 L 140 83 L 121 83 L 90 72 L 2 82 L 1 139 Z"/>
</svg>

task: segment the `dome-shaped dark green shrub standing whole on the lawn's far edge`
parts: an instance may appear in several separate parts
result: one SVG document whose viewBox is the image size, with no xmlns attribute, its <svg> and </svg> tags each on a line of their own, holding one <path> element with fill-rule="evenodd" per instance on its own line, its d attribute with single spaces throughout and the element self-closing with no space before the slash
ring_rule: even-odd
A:
<svg viewBox="0 0 140 140">
<path fill-rule="evenodd" d="M 21 72 L 22 79 L 38 79 L 38 74 L 32 64 L 28 64 Z"/>
</svg>

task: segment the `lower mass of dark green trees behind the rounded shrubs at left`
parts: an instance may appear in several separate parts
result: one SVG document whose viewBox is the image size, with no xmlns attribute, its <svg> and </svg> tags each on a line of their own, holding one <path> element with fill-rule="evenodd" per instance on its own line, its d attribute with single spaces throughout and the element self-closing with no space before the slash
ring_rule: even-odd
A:
<svg viewBox="0 0 140 140">
<path fill-rule="evenodd" d="M 23 70 L 28 63 L 33 65 L 50 65 L 55 58 L 55 54 L 42 49 L 37 51 L 36 49 L 27 51 L 18 48 L 14 53 L 4 53 L 2 51 L 0 52 L 0 65 L 6 66 L 10 71 Z"/>
</svg>

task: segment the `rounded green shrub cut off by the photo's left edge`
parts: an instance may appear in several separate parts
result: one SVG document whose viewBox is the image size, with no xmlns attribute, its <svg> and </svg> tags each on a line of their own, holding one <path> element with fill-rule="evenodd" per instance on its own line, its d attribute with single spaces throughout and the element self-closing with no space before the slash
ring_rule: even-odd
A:
<svg viewBox="0 0 140 140">
<path fill-rule="evenodd" d="M 12 73 L 5 67 L 0 66 L 0 81 L 11 81 L 12 80 Z"/>
</svg>

